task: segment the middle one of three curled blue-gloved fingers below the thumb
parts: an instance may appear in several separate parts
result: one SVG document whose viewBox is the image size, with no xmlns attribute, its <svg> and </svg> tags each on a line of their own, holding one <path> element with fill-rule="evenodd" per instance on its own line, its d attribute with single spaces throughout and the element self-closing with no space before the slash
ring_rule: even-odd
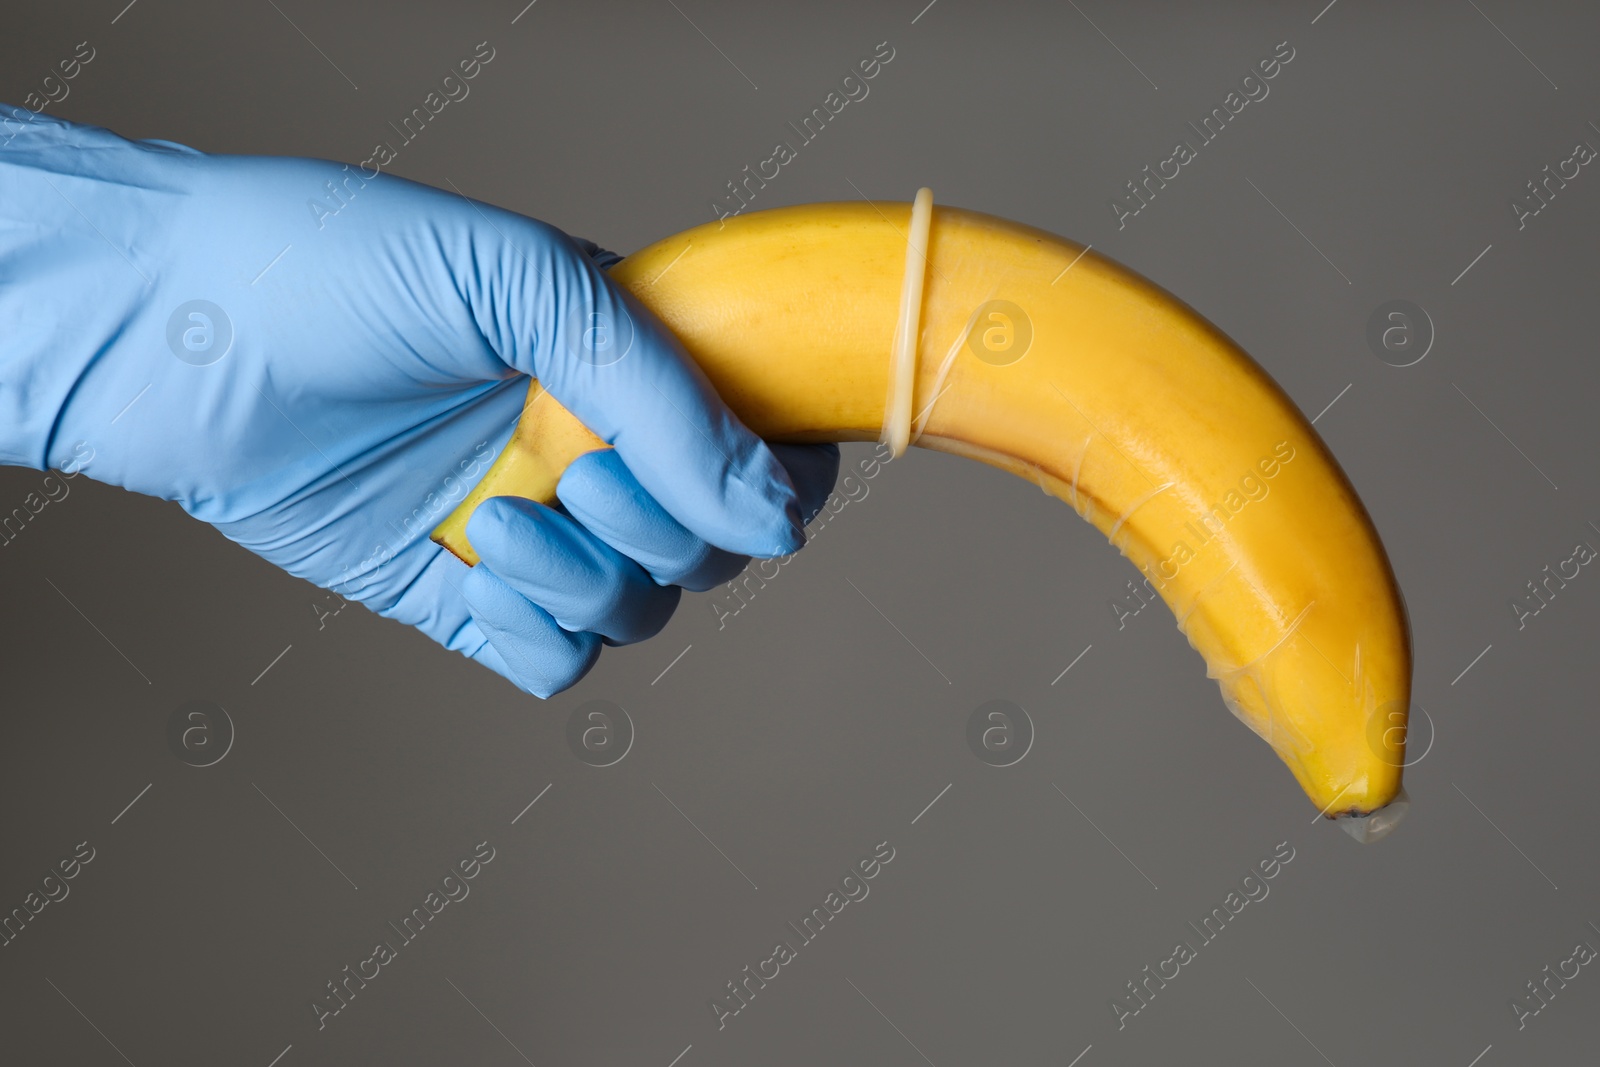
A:
<svg viewBox="0 0 1600 1067">
<path fill-rule="evenodd" d="M 483 501 L 467 537 L 499 579 L 566 630 L 629 645 L 659 633 L 678 606 L 682 590 L 658 585 L 573 518 L 533 501 Z"/>
</svg>

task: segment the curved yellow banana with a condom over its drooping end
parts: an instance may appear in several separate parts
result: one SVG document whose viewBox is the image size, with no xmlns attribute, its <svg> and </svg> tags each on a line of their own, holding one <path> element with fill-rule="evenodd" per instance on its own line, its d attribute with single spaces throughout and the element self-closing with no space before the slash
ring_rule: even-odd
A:
<svg viewBox="0 0 1600 1067">
<path fill-rule="evenodd" d="M 611 278 L 766 440 L 877 440 L 909 387 L 901 440 L 1070 504 L 1160 593 L 1227 707 L 1318 811 L 1357 840 L 1387 833 L 1405 811 L 1410 624 L 1371 518 L 1312 426 L 1155 283 L 958 208 L 925 224 L 914 365 L 893 363 L 915 221 L 906 203 L 746 213 L 658 242 Z M 899 390 L 896 366 L 910 371 Z M 603 446 L 533 382 L 512 442 L 434 539 L 475 563 L 478 501 L 550 502 L 566 464 Z"/>
</svg>

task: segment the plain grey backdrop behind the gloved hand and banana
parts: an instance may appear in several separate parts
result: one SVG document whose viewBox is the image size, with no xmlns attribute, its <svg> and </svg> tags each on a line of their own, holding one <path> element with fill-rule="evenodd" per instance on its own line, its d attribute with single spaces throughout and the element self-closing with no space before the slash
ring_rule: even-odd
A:
<svg viewBox="0 0 1600 1067">
<path fill-rule="evenodd" d="M 1520 632 L 1507 601 L 1600 544 L 1600 173 L 1520 232 L 1509 202 L 1600 144 L 1600 11 L 539 0 L 514 24 L 518 0 L 123 2 L 8 5 L 0 99 L 86 38 L 51 114 L 358 160 L 488 40 L 472 96 L 395 171 L 624 253 L 706 221 L 891 42 L 755 206 L 928 184 L 1155 278 L 1307 414 L 1339 397 L 1317 429 L 1406 592 L 1437 744 L 1389 840 L 1312 825 L 1165 608 L 1117 629 L 1133 568 L 1059 501 L 949 456 L 890 464 L 725 629 L 686 597 L 547 704 L 360 606 L 318 629 L 320 590 L 77 480 L 0 549 L 0 905 L 77 841 L 96 857 L 0 949 L 0 1059 L 1594 1062 L 1592 968 L 1525 1030 L 1509 1000 L 1600 945 L 1600 577 Z M 1122 182 L 1283 40 L 1270 96 L 1118 230 Z M 1366 346 L 1389 299 L 1437 326 L 1414 366 Z M 0 510 L 40 477 L 0 470 Z M 997 697 L 1037 726 L 1010 768 L 965 742 Z M 166 744 L 192 699 L 237 726 L 210 768 Z M 566 744 L 590 699 L 637 726 L 610 768 Z M 470 896 L 318 1032 L 323 984 L 483 840 Z M 718 1030 L 709 998 L 885 840 L 870 896 Z M 1110 998 L 1280 841 L 1270 896 L 1118 1030 Z"/>
</svg>

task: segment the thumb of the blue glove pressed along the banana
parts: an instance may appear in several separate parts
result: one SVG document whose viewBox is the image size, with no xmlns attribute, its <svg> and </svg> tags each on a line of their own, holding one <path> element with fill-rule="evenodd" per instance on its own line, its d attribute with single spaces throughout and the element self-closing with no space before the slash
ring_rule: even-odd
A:
<svg viewBox="0 0 1600 1067">
<path fill-rule="evenodd" d="M 765 557 L 798 549 L 805 537 L 782 464 L 667 326 L 566 234 L 472 208 L 474 262 L 461 272 L 499 357 L 616 446 L 638 483 L 701 539 Z"/>
</svg>

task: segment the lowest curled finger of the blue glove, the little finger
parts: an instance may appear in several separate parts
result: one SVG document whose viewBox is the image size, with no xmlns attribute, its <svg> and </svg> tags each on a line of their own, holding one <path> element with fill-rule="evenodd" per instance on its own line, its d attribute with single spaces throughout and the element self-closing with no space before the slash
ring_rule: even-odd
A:
<svg viewBox="0 0 1600 1067">
<path fill-rule="evenodd" d="M 469 653 L 472 659 L 541 699 L 578 685 L 600 657 L 598 635 L 562 629 L 485 563 L 461 579 L 461 595 L 488 641 Z"/>
</svg>

